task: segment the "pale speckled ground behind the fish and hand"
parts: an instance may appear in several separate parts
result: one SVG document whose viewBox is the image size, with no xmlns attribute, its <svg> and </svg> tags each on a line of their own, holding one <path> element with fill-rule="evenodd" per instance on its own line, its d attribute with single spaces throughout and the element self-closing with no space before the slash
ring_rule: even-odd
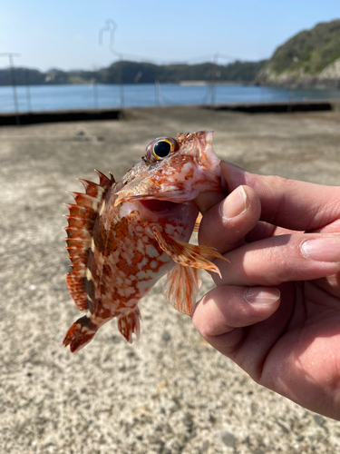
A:
<svg viewBox="0 0 340 454">
<path fill-rule="evenodd" d="M 1 452 L 340 452 L 340 423 L 252 382 L 163 300 L 161 282 L 141 301 L 140 341 L 112 321 L 79 353 L 61 345 L 78 316 L 65 191 L 96 181 L 93 168 L 121 177 L 155 137 L 210 128 L 219 156 L 252 172 L 340 184 L 340 113 L 160 108 L 0 129 Z"/>
</svg>

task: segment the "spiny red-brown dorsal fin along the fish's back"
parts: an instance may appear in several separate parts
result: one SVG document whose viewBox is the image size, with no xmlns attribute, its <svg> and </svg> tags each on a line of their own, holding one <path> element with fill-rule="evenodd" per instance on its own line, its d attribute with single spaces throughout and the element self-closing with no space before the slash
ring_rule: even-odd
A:
<svg viewBox="0 0 340 454">
<path fill-rule="evenodd" d="M 78 180 L 83 184 L 85 193 L 69 192 L 73 196 L 75 204 L 65 203 L 70 212 L 68 216 L 65 216 L 68 221 L 68 226 L 64 227 L 67 232 L 65 241 L 73 267 L 73 271 L 66 275 L 66 283 L 79 311 L 87 311 L 85 276 L 92 243 L 93 225 L 101 209 L 102 201 L 115 183 L 112 173 L 110 173 L 111 179 L 109 179 L 102 172 L 95 172 L 98 173 L 99 184 Z"/>
</svg>

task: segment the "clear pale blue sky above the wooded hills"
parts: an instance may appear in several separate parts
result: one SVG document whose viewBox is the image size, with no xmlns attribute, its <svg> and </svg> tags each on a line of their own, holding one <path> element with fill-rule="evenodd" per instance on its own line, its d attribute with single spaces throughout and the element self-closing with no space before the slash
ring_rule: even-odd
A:
<svg viewBox="0 0 340 454">
<path fill-rule="evenodd" d="M 340 18 L 340 0 L 2 0 L 0 53 L 15 65 L 47 70 L 94 69 L 117 59 L 106 19 L 117 25 L 114 48 L 124 59 L 199 63 L 213 54 L 260 60 L 319 22 Z M 219 63 L 228 63 L 219 58 Z M 0 56 L 0 67 L 8 65 Z"/>
</svg>

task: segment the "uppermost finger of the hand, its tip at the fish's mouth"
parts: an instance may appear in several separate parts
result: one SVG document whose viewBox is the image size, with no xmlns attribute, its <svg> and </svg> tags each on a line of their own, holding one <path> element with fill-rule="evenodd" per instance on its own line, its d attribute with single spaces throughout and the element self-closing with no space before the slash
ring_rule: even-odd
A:
<svg viewBox="0 0 340 454">
<path fill-rule="evenodd" d="M 298 231 L 319 229 L 340 218 L 340 187 L 248 173 L 222 161 L 228 192 L 246 184 L 257 192 L 261 221 Z"/>
</svg>

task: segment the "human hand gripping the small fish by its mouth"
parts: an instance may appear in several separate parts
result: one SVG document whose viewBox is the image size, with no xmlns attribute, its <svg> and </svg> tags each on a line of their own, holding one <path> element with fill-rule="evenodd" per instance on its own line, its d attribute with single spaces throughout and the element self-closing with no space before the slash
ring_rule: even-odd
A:
<svg viewBox="0 0 340 454">
<path fill-rule="evenodd" d="M 221 170 L 230 195 L 199 196 L 199 243 L 229 262 L 192 322 L 257 383 L 340 419 L 340 187 Z"/>
</svg>

